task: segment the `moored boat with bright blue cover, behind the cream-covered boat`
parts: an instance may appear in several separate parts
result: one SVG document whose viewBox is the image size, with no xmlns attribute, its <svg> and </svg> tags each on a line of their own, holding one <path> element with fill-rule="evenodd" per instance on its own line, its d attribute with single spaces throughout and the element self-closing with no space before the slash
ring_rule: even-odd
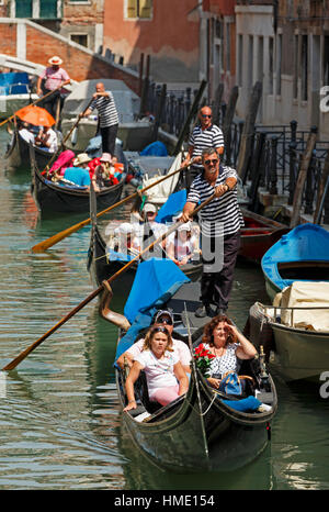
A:
<svg viewBox="0 0 329 512">
<path fill-rule="evenodd" d="M 328 231 L 317 224 L 298 225 L 264 254 L 261 266 L 272 301 L 294 281 L 329 281 Z"/>
</svg>

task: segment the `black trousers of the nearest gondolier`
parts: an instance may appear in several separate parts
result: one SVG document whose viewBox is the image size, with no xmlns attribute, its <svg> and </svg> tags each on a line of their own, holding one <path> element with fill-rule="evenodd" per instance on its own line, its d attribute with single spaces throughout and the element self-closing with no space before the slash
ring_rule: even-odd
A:
<svg viewBox="0 0 329 512">
<path fill-rule="evenodd" d="M 203 272 L 201 301 L 204 305 L 215 304 L 224 311 L 228 307 L 234 280 L 234 270 L 240 248 L 240 231 L 224 236 L 223 268 L 218 272 Z"/>
</svg>

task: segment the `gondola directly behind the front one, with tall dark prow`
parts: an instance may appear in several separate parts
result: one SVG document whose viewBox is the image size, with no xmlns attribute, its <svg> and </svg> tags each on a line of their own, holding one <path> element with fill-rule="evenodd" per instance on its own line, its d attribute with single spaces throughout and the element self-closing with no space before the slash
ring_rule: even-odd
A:
<svg viewBox="0 0 329 512">
<path fill-rule="evenodd" d="M 109 279 L 110 276 L 118 271 L 127 261 L 114 259 L 111 260 L 106 249 L 106 243 L 103 240 L 100 229 L 97 222 L 97 205 L 99 198 L 95 197 L 93 190 L 90 191 L 90 219 L 91 219 L 91 236 L 90 236 L 90 246 L 88 252 L 88 263 L 87 268 L 91 275 L 91 279 L 95 286 L 104 279 Z M 114 290 L 120 286 L 121 289 L 125 290 L 125 293 L 128 293 L 136 270 L 138 268 L 138 263 L 134 263 L 132 267 L 123 275 L 120 285 L 114 281 Z M 182 271 L 188 276 L 192 281 L 198 279 L 202 274 L 202 263 L 201 260 L 193 261 L 191 264 L 183 265 L 181 267 Z"/>
</svg>

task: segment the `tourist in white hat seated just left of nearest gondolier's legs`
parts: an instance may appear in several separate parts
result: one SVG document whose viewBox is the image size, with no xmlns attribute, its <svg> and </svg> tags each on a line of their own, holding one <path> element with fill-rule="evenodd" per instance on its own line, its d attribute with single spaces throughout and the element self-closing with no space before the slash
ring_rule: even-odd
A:
<svg viewBox="0 0 329 512">
<path fill-rule="evenodd" d="M 167 256 L 178 266 L 186 265 L 200 253 L 198 238 L 192 235 L 191 222 L 181 224 L 167 241 Z"/>
</svg>

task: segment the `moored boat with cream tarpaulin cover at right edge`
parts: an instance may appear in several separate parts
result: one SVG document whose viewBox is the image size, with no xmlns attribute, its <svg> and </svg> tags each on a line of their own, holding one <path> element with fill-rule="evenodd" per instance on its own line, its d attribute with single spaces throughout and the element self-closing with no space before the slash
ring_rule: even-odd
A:
<svg viewBox="0 0 329 512">
<path fill-rule="evenodd" d="M 295 281 L 273 305 L 250 308 L 246 335 L 262 344 L 286 381 L 319 385 L 329 367 L 329 282 Z"/>
</svg>

